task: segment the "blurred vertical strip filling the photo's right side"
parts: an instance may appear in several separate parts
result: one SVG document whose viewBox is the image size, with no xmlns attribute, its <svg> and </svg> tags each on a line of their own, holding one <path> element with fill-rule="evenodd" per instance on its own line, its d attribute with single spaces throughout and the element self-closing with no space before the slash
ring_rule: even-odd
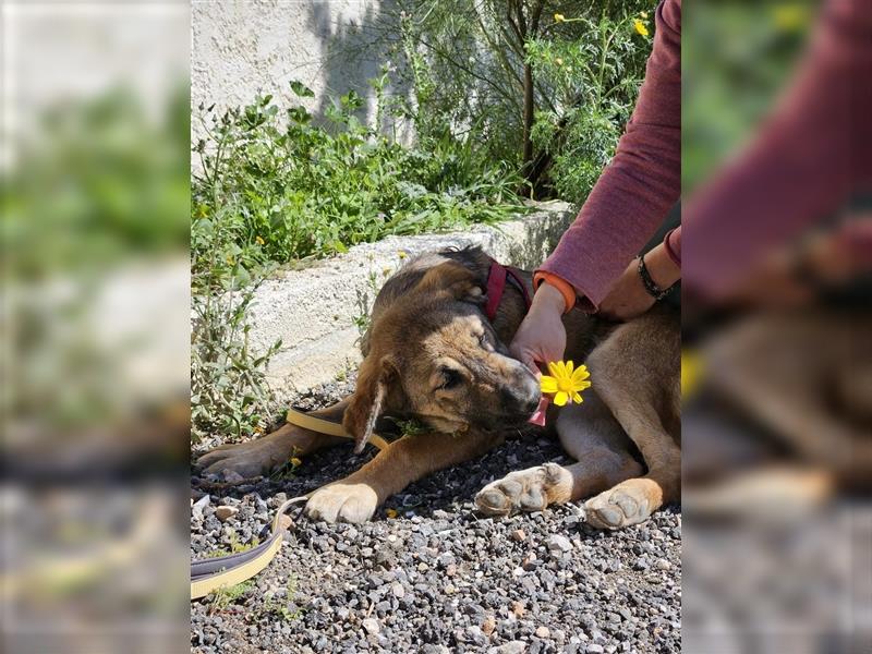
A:
<svg viewBox="0 0 872 654">
<path fill-rule="evenodd" d="M 872 651 L 872 15 L 683 21 L 686 652 Z"/>
</svg>

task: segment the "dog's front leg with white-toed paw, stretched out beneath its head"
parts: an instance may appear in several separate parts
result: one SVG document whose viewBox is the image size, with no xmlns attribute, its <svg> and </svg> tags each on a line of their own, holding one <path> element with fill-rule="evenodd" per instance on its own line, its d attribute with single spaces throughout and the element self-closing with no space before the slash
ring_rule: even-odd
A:
<svg viewBox="0 0 872 654">
<path fill-rule="evenodd" d="M 412 482 L 479 457 L 501 440 L 483 434 L 405 436 L 359 471 L 318 488 L 306 504 L 306 513 L 327 522 L 366 522 L 388 497 Z"/>
</svg>

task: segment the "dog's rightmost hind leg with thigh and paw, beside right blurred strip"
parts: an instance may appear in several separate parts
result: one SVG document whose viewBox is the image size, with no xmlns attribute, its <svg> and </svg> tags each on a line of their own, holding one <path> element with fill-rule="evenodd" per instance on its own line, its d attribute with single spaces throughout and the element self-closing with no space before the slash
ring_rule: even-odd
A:
<svg viewBox="0 0 872 654">
<path fill-rule="evenodd" d="M 588 521 L 601 529 L 637 524 L 681 497 L 681 449 L 664 426 L 677 424 L 680 414 L 679 340 L 677 334 L 664 338 L 657 319 L 623 325 L 588 361 L 597 395 L 647 467 L 644 476 L 626 480 L 585 502 Z"/>
</svg>

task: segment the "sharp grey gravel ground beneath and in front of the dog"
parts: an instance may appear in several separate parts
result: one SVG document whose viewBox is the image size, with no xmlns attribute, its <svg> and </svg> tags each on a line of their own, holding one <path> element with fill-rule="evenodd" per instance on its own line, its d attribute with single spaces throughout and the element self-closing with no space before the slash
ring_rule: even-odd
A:
<svg viewBox="0 0 872 654">
<path fill-rule="evenodd" d="M 323 405 L 350 384 L 293 400 Z M 373 453 L 355 457 L 349 445 L 307 457 L 293 476 L 235 487 L 194 477 L 192 556 L 265 535 L 286 498 Z M 678 652 L 678 508 L 618 532 L 591 529 L 577 505 L 510 519 L 474 513 L 473 496 L 492 480 L 565 460 L 557 443 L 510 440 L 409 486 L 363 525 L 311 522 L 295 510 L 264 572 L 192 603 L 192 651 Z M 221 521 L 219 506 L 238 512 Z"/>
</svg>

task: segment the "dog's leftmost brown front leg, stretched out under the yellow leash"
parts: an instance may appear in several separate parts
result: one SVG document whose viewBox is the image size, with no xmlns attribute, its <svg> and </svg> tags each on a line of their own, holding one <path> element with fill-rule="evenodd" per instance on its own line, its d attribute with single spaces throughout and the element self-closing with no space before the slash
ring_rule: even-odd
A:
<svg viewBox="0 0 872 654">
<path fill-rule="evenodd" d="M 348 400 L 313 411 L 312 415 L 341 423 Z M 222 445 L 203 455 L 195 465 L 204 473 L 222 474 L 232 471 L 243 477 L 264 474 L 284 464 L 293 456 L 304 456 L 324 447 L 349 443 L 346 438 L 326 436 L 296 425 L 283 425 L 262 438 Z"/>
</svg>

